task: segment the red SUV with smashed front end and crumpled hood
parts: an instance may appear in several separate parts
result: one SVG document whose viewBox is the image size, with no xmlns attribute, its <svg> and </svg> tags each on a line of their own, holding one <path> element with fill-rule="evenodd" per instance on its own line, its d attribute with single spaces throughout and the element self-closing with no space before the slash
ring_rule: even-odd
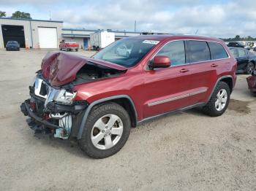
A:
<svg viewBox="0 0 256 191">
<path fill-rule="evenodd" d="M 198 106 L 223 114 L 235 83 L 236 59 L 220 39 L 136 36 L 91 58 L 48 53 L 20 108 L 36 133 L 75 137 L 87 155 L 103 158 L 153 117 Z"/>
</svg>

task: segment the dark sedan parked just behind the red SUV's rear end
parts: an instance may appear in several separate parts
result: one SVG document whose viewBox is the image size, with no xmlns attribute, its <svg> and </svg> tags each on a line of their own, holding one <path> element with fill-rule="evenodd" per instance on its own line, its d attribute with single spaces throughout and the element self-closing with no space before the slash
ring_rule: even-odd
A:
<svg viewBox="0 0 256 191">
<path fill-rule="evenodd" d="M 252 74 L 255 69 L 256 55 L 253 52 L 240 47 L 230 47 L 237 61 L 237 73 Z"/>
</svg>

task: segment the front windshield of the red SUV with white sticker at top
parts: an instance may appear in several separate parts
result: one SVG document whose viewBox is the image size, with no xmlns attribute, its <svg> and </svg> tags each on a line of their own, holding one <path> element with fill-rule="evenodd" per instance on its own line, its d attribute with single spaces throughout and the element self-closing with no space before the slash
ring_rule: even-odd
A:
<svg viewBox="0 0 256 191">
<path fill-rule="evenodd" d="M 132 67 L 158 42 L 145 39 L 121 39 L 99 51 L 93 58 Z"/>
</svg>

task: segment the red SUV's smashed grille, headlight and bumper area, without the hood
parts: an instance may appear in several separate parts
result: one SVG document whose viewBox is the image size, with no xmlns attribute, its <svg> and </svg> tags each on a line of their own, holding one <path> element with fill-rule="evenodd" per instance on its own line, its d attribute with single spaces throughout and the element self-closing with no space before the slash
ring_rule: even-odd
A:
<svg viewBox="0 0 256 191">
<path fill-rule="evenodd" d="M 31 98 L 21 104 L 24 115 L 31 119 L 29 126 L 35 133 L 53 133 L 54 137 L 68 139 L 75 120 L 88 106 L 86 101 L 74 101 L 75 92 L 50 87 L 37 74 L 29 87 Z"/>
</svg>

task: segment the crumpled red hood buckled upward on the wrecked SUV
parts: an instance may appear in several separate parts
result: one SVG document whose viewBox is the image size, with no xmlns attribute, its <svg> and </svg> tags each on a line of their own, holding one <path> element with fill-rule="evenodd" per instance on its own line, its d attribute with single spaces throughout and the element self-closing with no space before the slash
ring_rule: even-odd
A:
<svg viewBox="0 0 256 191">
<path fill-rule="evenodd" d="M 86 58 L 80 55 L 72 55 L 65 52 L 53 51 L 48 52 L 42 60 L 42 75 L 45 79 L 48 79 L 52 86 L 65 85 L 74 81 L 78 71 L 89 62 L 99 64 L 110 69 L 120 71 L 127 70 L 126 67 L 120 66 L 116 63 L 110 63 L 94 58 Z"/>
</svg>

